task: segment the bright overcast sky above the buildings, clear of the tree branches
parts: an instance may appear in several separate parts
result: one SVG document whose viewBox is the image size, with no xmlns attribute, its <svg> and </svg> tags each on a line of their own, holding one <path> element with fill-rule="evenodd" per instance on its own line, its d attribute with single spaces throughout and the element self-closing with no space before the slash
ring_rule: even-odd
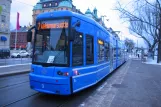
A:
<svg viewBox="0 0 161 107">
<path fill-rule="evenodd" d="M 11 26 L 15 28 L 16 26 L 16 14 L 20 13 L 20 25 L 29 25 L 32 24 L 32 9 L 33 6 L 39 0 L 12 0 L 11 4 Z M 125 5 L 129 3 L 130 0 L 119 0 Z M 112 27 L 114 31 L 121 31 L 122 38 L 128 37 L 133 39 L 135 42 L 137 38 L 130 35 L 126 23 L 122 23 L 119 19 L 119 12 L 114 10 L 116 6 L 116 0 L 73 0 L 73 4 L 80 9 L 83 13 L 90 8 L 93 11 L 94 7 L 98 9 L 98 15 L 106 15 L 105 19 L 109 19 L 109 21 L 105 20 L 105 24 L 107 27 Z"/>
</svg>

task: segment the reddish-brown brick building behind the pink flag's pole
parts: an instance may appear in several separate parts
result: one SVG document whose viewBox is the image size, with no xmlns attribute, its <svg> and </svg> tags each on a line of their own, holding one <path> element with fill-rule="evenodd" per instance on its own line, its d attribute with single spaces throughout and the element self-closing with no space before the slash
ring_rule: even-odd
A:
<svg viewBox="0 0 161 107">
<path fill-rule="evenodd" d="M 17 41 L 16 41 L 16 49 L 26 49 L 27 47 L 27 31 L 28 27 L 20 27 L 17 30 Z M 10 49 L 15 49 L 15 39 L 16 39 L 16 29 L 11 31 L 10 36 Z"/>
</svg>

